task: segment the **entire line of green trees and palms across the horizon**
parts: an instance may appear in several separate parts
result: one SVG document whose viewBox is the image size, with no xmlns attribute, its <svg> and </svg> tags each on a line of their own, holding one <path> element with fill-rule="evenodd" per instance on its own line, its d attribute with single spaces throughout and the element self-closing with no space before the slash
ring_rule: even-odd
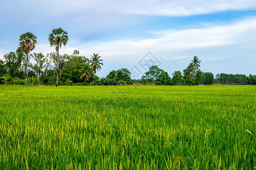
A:
<svg viewBox="0 0 256 170">
<path fill-rule="evenodd" d="M 67 45 L 68 33 L 62 28 L 52 29 L 48 37 L 49 44 L 55 46 L 56 52 L 31 53 L 35 49 L 36 36 L 30 32 L 23 33 L 19 38 L 16 52 L 10 52 L 0 60 L 0 84 L 20 85 L 127 85 L 127 84 L 155 84 L 155 85 L 199 85 L 199 84 L 256 84 L 256 76 L 244 74 L 204 73 L 200 70 L 201 61 L 197 56 L 183 70 L 172 73 L 172 78 L 158 66 L 151 66 L 139 80 L 131 78 L 128 69 L 110 71 L 105 78 L 98 78 L 97 71 L 101 70 L 103 61 L 101 56 L 93 53 L 90 58 L 79 55 L 79 50 L 73 54 L 60 55 L 61 46 Z M 30 59 L 34 59 L 34 63 Z"/>
</svg>

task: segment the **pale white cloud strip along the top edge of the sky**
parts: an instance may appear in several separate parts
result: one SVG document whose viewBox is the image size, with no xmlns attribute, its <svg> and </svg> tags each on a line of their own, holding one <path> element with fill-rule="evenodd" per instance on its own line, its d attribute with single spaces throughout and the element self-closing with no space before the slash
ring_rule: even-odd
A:
<svg viewBox="0 0 256 170">
<path fill-rule="evenodd" d="M 28 5 L 30 4 L 30 5 Z M 198 14 L 210 14 L 213 12 L 229 10 L 255 10 L 254 0 L 45 0 L 45 1 L 6 1 L 2 7 L 12 6 L 9 11 L 15 10 L 15 6 L 24 7 L 26 12 L 33 14 L 49 14 L 52 17 L 65 17 L 71 14 L 98 15 L 127 13 L 135 15 L 161 15 L 161 16 L 189 16 Z M 33 7 L 31 7 L 33 6 Z M 1 9 L 1 8 L 0 8 Z M 27 10 L 26 10 L 27 9 Z M 28 10 L 29 9 L 29 10 Z M 4 10 L 4 8 L 3 8 Z M 24 12 L 23 11 L 23 12 Z M 79 15 L 76 15 L 79 16 Z M 104 16 L 104 15 L 102 15 Z"/>
</svg>

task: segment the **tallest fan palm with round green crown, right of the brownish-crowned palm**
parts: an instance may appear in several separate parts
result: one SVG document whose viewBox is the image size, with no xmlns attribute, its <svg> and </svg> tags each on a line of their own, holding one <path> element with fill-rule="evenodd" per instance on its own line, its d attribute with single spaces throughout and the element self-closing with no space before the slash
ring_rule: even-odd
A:
<svg viewBox="0 0 256 170">
<path fill-rule="evenodd" d="M 57 80 L 56 87 L 58 86 L 59 79 L 59 49 L 62 45 L 66 46 L 68 42 L 68 32 L 64 31 L 62 28 L 52 29 L 52 33 L 49 34 L 48 38 L 51 46 L 56 46 L 57 52 Z"/>
</svg>

